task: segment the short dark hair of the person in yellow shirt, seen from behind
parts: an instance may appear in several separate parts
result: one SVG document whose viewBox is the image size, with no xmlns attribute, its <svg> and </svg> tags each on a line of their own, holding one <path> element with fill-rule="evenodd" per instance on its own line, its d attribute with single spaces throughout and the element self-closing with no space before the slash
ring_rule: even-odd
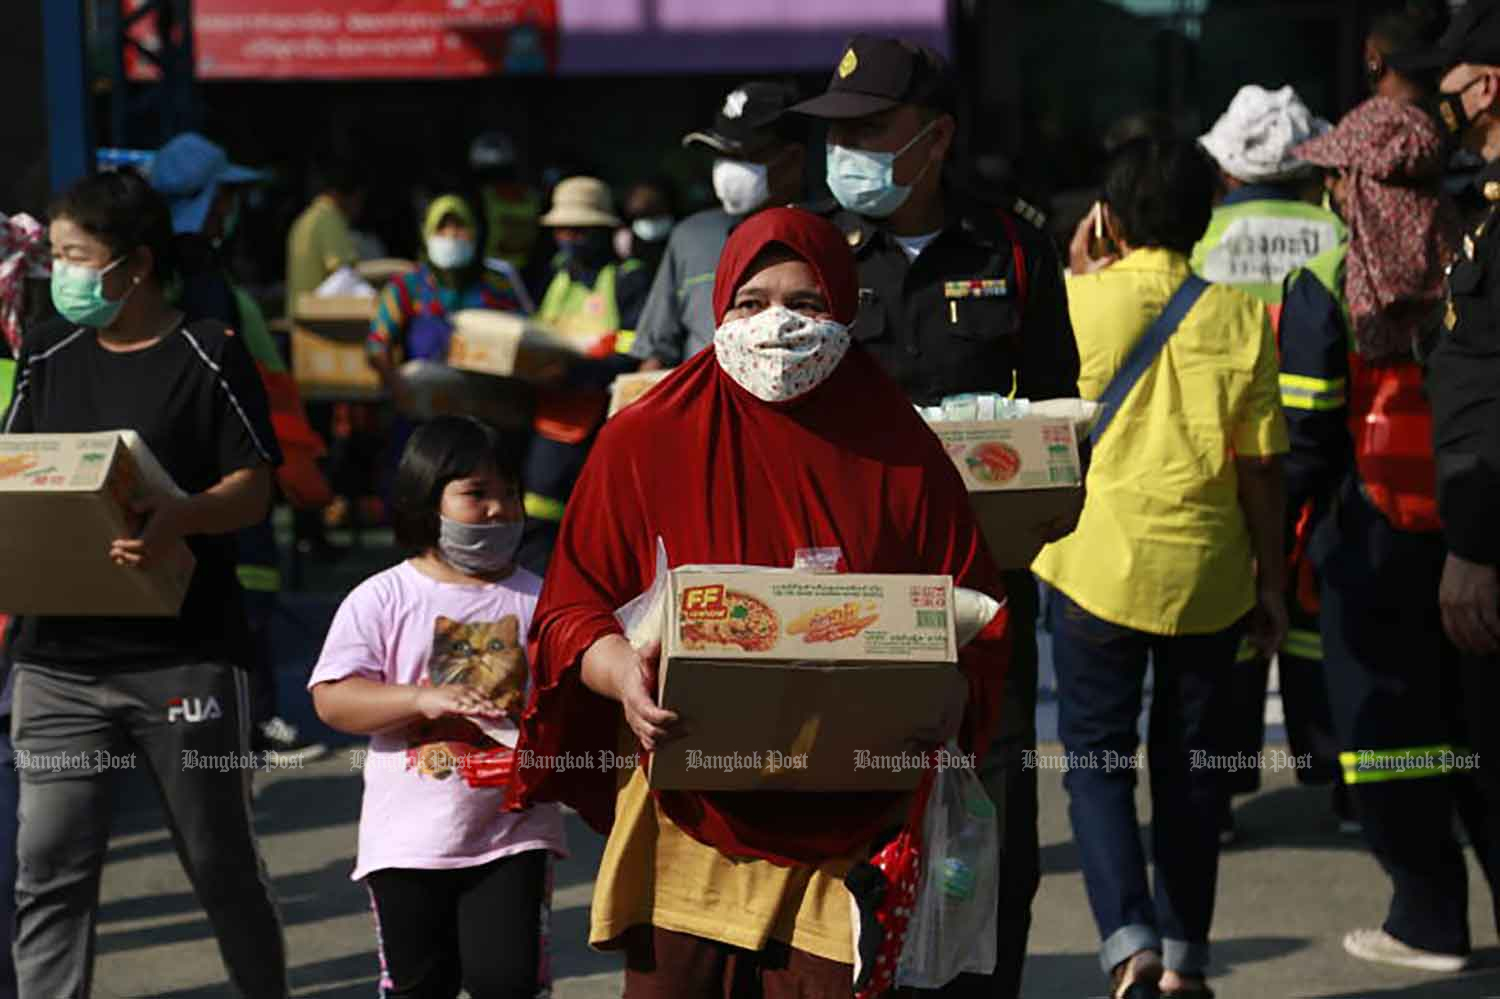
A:
<svg viewBox="0 0 1500 999">
<path fill-rule="evenodd" d="M 1191 254 L 1214 213 L 1218 172 L 1197 142 L 1138 138 L 1120 146 L 1104 172 L 1104 201 L 1131 246 Z"/>
</svg>

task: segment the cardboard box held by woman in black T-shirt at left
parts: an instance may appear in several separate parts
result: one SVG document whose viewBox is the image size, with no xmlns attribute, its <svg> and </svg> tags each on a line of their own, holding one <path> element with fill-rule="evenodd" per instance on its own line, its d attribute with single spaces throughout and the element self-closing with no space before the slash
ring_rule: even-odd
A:
<svg viewBox="0 0 1500 999">
<path fill-rule="evenodd" d="M 0 436 L 0 612 L 176 616 L 192 580 L 182 542 L 147 568 L 110 561 L 134 536 L 132 504 L 182 495 L 132 432 Z"/>
</svg>

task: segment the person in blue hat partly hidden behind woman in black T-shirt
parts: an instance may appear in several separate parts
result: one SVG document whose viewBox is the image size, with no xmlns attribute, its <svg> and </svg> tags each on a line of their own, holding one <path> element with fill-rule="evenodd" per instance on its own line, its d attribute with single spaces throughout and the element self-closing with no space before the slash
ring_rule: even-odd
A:
<svg viewBox="0 0 1500 999">
<path fill-rule="evenodd" d="M 196 132 L 177 135 L 152 159 L 152 186 L 166 198 L 172 213 L 180 280 L 176 304 L 188 321 L 218 320 L 244 339 L 272 400 L 272 426 L 286 458 L 276 471 L 278 483 L 294 506 L 316 507 L 332 498 L 316 466 L 322 440 L 308 424 L 297 382 L 272 339 L 266 315 L 234 284 L 224 262 L 222 250 L 234 238 L 243 190 L 264 178 L 258 170 L 231 164 L 222 147 Z M 304 738 L 276 708 L 270 621 L 282 579 L 270 510 L 260 524 L 242 530 L 236 543 L 249 622 L 250 747 L 278 764 L 318 759 L 328 747 Z"/>
</svg>

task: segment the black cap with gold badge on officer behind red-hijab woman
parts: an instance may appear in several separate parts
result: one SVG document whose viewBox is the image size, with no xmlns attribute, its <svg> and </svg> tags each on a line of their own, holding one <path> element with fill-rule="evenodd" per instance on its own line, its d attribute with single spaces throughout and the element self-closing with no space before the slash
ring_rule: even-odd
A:
<svg viewBox="0 0 1500 999">
<path fill-rule="evenodd" d="M 828 92 L 792 111 L 814 118 L 862 118 L 903 104 L 952 114 L 958 86 L 948 62 L 924 45 L 856 34 L 844 48 Z"/>
</svg>

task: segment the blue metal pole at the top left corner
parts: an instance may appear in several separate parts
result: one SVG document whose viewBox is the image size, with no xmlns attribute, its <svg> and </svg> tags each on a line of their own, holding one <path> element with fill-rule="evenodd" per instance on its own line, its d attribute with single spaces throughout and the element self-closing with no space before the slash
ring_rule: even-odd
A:
<svg viewBox="0 0 1500 999">
<path fill-rule="evenodd" d="M 42 4 L 48 162 L 52 190 L 62 190 L 93 172 L 84 4 L 82 0 L 36 2 Z"/>
</svg>

